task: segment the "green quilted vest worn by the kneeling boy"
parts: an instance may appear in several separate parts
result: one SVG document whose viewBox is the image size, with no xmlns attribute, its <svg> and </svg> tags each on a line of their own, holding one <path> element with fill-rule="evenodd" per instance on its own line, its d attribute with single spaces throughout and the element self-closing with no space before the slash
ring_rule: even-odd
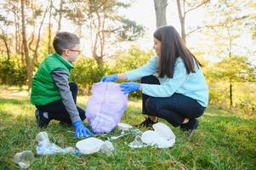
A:
<svg viewBox="0 0 256 170">
<path fill-rule="evenodd" d="M 32 79 L 31 103 L 33 105 L 47 105 L 61 99 L 59 89 L 55 85 L 51 73 L 56 69 L 64 69 L 69 75 L 72 68 L 73 65 L 59 54 L 48 54 Z"/>
</svg>

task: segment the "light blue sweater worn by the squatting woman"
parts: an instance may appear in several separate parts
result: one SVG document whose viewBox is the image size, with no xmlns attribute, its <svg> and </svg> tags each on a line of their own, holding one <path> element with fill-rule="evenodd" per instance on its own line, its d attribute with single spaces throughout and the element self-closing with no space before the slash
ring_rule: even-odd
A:
<svg viewBox="0 0 256 170">
<path fill-rule="evenodd" d="M 139 68 L 126 72 L 128 81 L 138 80 L 141 77 L 150 76 L 156 73 L 158 59 L 154 56 L 148 63 Z M 208 86 L 195 62 L 194 73 L 187 74 L 185 65 L 179 57 L 174 66 L 174 77 L 158 78 L 158 84 L 142 84 L 142 93 L 152 97 L 170 97 L 174 93 L 184 94 L 185 96 L 196 99 L 196 101 L 206 107 L 208 105 Z"/>
</svg>

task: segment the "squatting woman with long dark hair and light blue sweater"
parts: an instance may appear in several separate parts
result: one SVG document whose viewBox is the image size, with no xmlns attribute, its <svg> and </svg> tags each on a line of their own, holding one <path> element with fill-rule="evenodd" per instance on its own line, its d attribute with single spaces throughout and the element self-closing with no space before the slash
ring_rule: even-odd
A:
<svg viewBox="0 0 256 170">
<path fill-rule="evenodd" d="M 163 26 L 154 32 L 156 56 L 150 61 L 126 73 L 109 75 L 101 82 L 123 82 L 124 94 L 141 91 L 142 113 L 148 115 L 139 125 L 151 127 L 156 117 L 161 117 L 184 131 L 198 127 L 198 118 L 208 105 L 208 87 L 202 74 L 202 66 L 173 26 Z M 155 75 L 157 74 L 157 75 Z"/>
</svg>

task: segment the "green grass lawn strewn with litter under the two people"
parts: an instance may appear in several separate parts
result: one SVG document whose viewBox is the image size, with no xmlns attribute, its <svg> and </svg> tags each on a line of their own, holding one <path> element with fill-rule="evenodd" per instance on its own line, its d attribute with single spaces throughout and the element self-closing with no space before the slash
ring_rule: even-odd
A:
<svg viewBox="0 0 256 170">
<path fill-rule="evenodd" d="M 88 97 L 80 96 L 78 103 L 85 108 Z M 141 100 L 131 99 L 122 122 L 136 124 L 144 116 L 140 113 Z M 18 168 L 13 162 L 16 152 L 32 150 L 36 155 L 37 133 L 46 131 L 50 140 L 62 147 L 75 146 L 78 139 L 72 127 L 50 122 L 46 129 L 36 126 L 34 106 L 27 94 L 19 88 L 0 87 L 0 169 Z M 165 122 L 160 120 L 161 122 Z M 256 167 L 256 118 L 209 107 L 199 119 L 196 133 L 183 133 L 171 129 L 176 135 L 173 148 L 146 147 L 130 149 L 133 135 L 112 141 L 113 156 L 103 153 L 75 156 L 35 156 L 30 169 L 255 169 Z M 146 129 L 141 129 L 145 131 Z M 114 130 L 110 135 L 120 134 Z"/>
</svg>

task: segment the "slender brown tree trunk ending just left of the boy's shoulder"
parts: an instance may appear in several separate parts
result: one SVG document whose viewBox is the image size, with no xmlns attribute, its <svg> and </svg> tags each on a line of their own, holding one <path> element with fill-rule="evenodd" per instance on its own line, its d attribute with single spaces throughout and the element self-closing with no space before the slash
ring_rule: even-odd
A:
<svg viewBox="0 0 256 170">
<path fill-rule="evenodd" d="M 26 26 L 25 26 L 25 13 L 24 13 L 24 4 L 26 3 L 26 0 L 20 0 L 21 3 L 21 27 L 22 27 L 22 42 L 23 42 L 23 48 L 25 53 L 25 59 L 26 59 L 26 71 L 27 71 L 27 86 L 28 89 L 31 88 L 31 80 L 33 76 L 33 71 L 31 68 L 31 60 L 29 57 L 29 52 L 27 48 L 27 41 L 26 41 Z"/>
</svg>

